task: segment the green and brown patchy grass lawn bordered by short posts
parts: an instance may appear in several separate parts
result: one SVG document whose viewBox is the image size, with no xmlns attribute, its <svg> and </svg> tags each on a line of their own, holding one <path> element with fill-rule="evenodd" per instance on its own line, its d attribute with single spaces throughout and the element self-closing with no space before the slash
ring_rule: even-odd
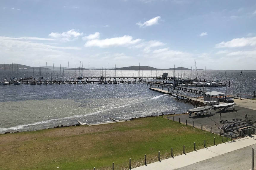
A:
<svg viewBox="0 0 256 170">
<path fill-rule="evenodd" d="M 127 122 L 44 129 L 0 135 L 1 169 L 129 169 L 185 152 L 222 143 L 222 137 L 163 119 L 162 116 Z"/>
</svg>

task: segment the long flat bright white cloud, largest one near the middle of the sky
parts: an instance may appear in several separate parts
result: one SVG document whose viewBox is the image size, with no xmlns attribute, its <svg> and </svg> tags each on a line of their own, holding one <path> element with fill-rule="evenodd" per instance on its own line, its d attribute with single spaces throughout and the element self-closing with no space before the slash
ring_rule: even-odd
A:
<svg viewBox="0 0 256 170">
<path fill-rule="evenodd" d="M 85 43 L 85 47 L 111 47 L 111 46 L 129 46 L 140 42 L 141 39 L 133 40 L 132 36 L 124 35 L 123 37 L 106 38 L 104 40 L 93 39 Z"/>
</svg>

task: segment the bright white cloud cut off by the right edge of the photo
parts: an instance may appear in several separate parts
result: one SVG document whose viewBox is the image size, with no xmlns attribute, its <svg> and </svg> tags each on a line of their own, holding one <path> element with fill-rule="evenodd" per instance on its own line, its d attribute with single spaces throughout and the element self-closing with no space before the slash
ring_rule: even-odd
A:
<svg viewBox="0 0 256 170">
<path fill-rule="evenodd" d="M 231 41 L 218 43 L 215 45 L 216 48 L 234 48 L 234 47 L 244 47 L 244 46 L 255 46 L 256 45 L 256 37 L 249 38 L 234 38 Z"/>
</svg>

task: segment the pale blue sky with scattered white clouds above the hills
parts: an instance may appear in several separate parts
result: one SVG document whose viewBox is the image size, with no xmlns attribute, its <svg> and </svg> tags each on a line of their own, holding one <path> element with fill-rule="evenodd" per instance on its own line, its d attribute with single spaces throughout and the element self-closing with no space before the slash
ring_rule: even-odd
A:
<svg viewBox="0 0 256 170">
<path fill-rule="evenodd" d="M 0 64 L 256 70 L 255 0 L 1 0 Z"/>
</svg>

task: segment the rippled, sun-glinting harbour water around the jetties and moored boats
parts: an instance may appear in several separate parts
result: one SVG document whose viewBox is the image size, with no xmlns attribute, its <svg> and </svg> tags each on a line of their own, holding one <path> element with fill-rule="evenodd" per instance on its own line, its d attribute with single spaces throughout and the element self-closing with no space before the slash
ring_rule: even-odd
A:
<svg viewBox="0 0 256 170">
<path fill-rule="evenodd" d="M 62 70 L 61 70 L 62 71 Z M 36 73 L 37 72 L 37 73 Z M 163 72 L 173 75 L 173 71 L 116 71 L 116 79 L 124 77 L 159 77 Z M 0 70 L 0 79 L 4 77 L 29 77 L 33 76 L 32 70 L 19 70 L 17 75 L 12 75 L 7 70 Z M 60 79 L 60 70 L 58 70 Z M 256 71 L 244 71 L 242 83 L 240 71 L 207 71 L 207 80 L 219 78 L 227 87 L 204 87 L 205 91 L 220 91 L 227 95 L 240 94 L 243 98 L 252 98 L 256 88 Z M 34 77 L 39 77 L 39 72 L 34 71 Z M 63 74 L 63 71 L 62 71 Z M 62 79 L 75 79 L 79 72 L 64 70 Z M 81 73 L 80 73 L 81 74 Z M 90 74 L 90 75 L 89 75 Z M 193 79 L 191 71 L 176 71 L 175 76 L 184 79 Z M 10 75 L 10 76 L 6 76 Z M 43 73 L 41 73 L 43 75 Z M 105 70 L 90 70 L 83 72 L 83 77 L 105 77 Z M 115 72 L 106 71 L 106 77 L 114 77 Z M 203 71 L 200 73 L 203 75 Z M 48 75 L 51 76 L 49 71 Z M 64 78 L 63 78 L 64 77 Z M 204 78 L 205 78 L 204 77 Z M 8 78 L 9 79 L 9 78 Z M 55 73 L 55 79 L 56 73 Z M 203 79 L 203 77 L 201 77 Z M 228 85 L 230 82 L 230 86 Z M 192 87 L 200 88 L 203 87 Z M 163 89 L 165 90 L 165 89 Z M 194 93 L 181 91 L 191 97 L 198 96 Z M 235 93 L 235 94 L 234 94 Z M 174 99 L 170 95 L 162 95 L 149 90 L 146 83 L 138 84 L 98 84 L 89 83 L 82 85 L 0 85 L 0 133 L 15 131 L 39 130 L 57 125 L 77 124 L 77 120 L 86 124 L 111 122 L 109 117 L 117 120 L 127 120 L 134 117 L 151 116 L 159 114 L 184 113 L 193 106 Z"/>
</svg>

